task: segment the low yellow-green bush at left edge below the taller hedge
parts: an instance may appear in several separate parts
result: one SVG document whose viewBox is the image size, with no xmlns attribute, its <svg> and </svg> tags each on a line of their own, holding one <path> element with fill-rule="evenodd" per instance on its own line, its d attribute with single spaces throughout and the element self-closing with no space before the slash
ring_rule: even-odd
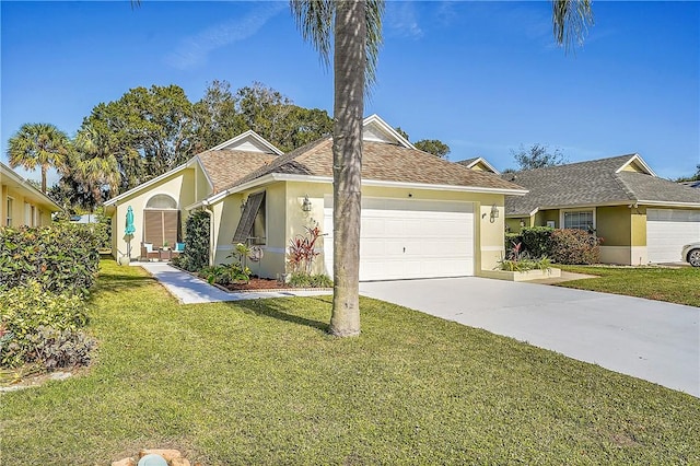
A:
<svg viewBox="0 0 700 466">
<path fill-rule="evenodd" d="M 42 354 L 52 353 L 49 359 L 58 358 L 56 341 L 66 343 L 66 351 L 78 351 L 81 345 L 90 340 L 79 331 L 88 324 L 85 304 L 81 296 L 71 294 L 54 294 L 47 292 L 36 282 L 26 287 L 16 287 L 0 293 L 0 365 L 14 368 L 28 362 L 45 363 Z M 43 336 L 60 333 L 51 337 L 51 341 L 43 341 Z M 51 334 L 51 335 L 52 335 Z M 75 343 L 73 348 L 68 342 Z M 58 346 L 60 349 L 62 343 Z M 38 349 L 37 349 L 38 348 Z M 84 359 L 84 358 L 83 358 Z M 52 362 L 48 362 L 49 366 Z M 57 365 L 62 366 L 62 365 Z"/>
</svg>

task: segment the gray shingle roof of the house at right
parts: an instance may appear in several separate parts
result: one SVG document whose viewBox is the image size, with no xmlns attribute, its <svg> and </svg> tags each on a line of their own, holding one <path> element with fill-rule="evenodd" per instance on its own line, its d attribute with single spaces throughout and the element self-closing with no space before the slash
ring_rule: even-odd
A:
<svg viewBox="0 0 700 466">
<path fill-rule="evenodd" d="M 504 179 L 529 189 L 525 196 L 505 199 L 505 214 L 529 215 L 538 208 L 637 201 L 697 202 L 700 207 L 700 191 L 692 188 L 649 174 L 616 173 L 634 155 L 504 174 Z"/>
</svg>

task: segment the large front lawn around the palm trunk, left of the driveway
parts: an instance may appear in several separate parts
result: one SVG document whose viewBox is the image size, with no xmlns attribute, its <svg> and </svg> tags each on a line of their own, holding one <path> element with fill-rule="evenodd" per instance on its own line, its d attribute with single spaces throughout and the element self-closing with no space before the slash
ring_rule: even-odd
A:
<svg viewBox="0 0 700 466">
<path fill-rule="evenodd" d="M 178 305 L 102 267 L 95 364 L 2 395 L 0 463 L 700 464 L 689 395 L 378 301 L 335 339 L 329 298 Z"/>
</svg>

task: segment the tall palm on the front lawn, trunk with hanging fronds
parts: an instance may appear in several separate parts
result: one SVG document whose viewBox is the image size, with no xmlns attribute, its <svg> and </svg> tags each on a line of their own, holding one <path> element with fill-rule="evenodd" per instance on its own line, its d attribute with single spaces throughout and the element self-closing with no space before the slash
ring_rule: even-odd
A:
<svg viewBox="0 0 700 466">
<path fill-rule="evenodd" d="M 362 119 L 382 43 L 384 0 L 291 0 L 305 40 L 326 65 L 334 50 L 334 300 L 330 333 L 360 334 Z M 567 48 L 593 23 L 591 0 L 553 0 L 555 38 Z M 332 48 L 331 48 L 332 36 Z"/>
</svg>

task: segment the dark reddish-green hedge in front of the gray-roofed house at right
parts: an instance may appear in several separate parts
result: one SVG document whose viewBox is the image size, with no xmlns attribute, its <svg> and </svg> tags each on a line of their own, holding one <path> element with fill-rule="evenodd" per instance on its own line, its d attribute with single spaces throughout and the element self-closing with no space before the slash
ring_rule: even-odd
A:
<svg viewBox="0 0 700 466">
<path fill-rule="evenodd" d="M 600 238 L 583 230 L 534 226 L 523 229 L 521 233 L 505 234 L 505 251 L 518 243 L 530 257 L 548 257 L 556 264 L 600 261 Z"/>
</svg>

